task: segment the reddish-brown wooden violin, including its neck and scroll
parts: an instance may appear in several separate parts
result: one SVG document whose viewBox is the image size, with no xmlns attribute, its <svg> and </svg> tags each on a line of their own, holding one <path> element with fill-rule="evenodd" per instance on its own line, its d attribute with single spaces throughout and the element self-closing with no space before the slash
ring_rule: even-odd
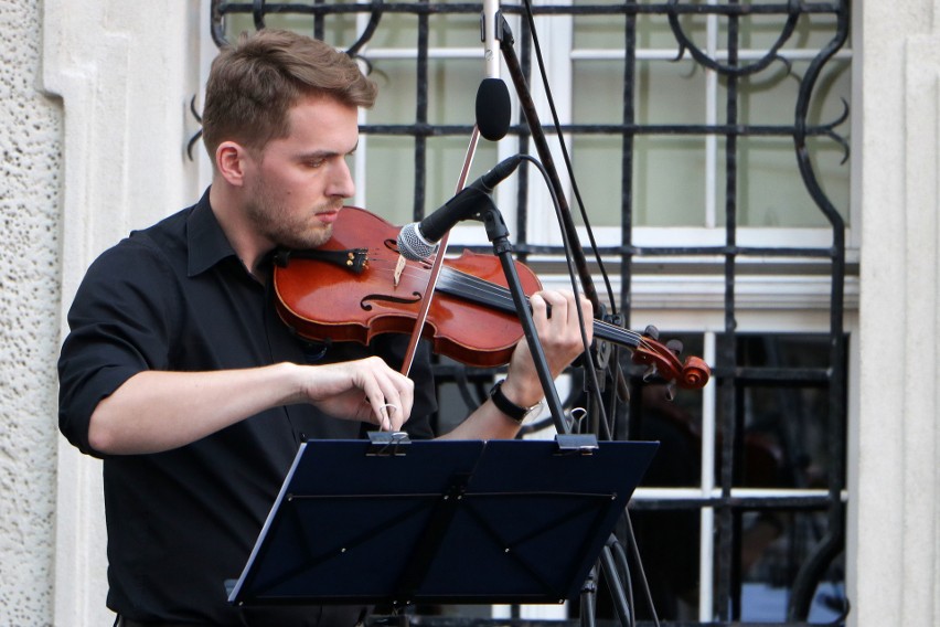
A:
<svg viewBox="0 0 940 627">
<path fill-rule="evenodd" d="M 284 322 L 317 341 L 368 343 L 381 333 L 412 333 L 431 263 L 399 262 L 399 230 L 364 209 L 346 206 L 319 248 L 278 252 L 273 280 Z M 515 265 L 526 295 L 542 288 L 531 268 Z M 650 334 L 600 320 L 594 321 L 594 334 L 632 349 L 635 363 L 680 387 L 702 387 L 711 375 L 702 359 L 681 362 L 677 351 Z M 445 259 L 421 337 L 438 354 L 467 365 L 509 363 L 523 329 L 496 256 L 464 251 Z"/>
</svg>

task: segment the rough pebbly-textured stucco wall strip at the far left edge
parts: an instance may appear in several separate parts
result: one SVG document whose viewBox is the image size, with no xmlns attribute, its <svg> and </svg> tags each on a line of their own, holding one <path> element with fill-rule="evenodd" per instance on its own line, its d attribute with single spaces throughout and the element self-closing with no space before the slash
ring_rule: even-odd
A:
<svg viewBox="0 0 940 627">
<path fill-rule="evenodd" d="M 51 625 L 62 107 L 39 0 L 0 2 L 0 624 Z"/>
</svg>

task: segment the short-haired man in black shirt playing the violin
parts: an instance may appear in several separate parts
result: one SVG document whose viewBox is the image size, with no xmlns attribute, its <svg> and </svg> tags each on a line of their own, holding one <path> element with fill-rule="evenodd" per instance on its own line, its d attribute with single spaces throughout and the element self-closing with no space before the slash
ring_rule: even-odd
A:
<svg viewBox="0 0 940 627">
<path fill-rule="evenodd" d="M 104 459 L 118 625 L 351 626 L 363 616 L 235 608 L 223 585 L 241 573 L 299 443 L 361 437 L 367 424 L 432 435 L 426 352 L 408 379 L 396 370 L 407 338 L 311 346 L 271 300 L 271 253 L 325 242 L 353 195 L 345 159 L 357 108 L 374 97 L 346 55 L 301 35 L 265 31 L 224 50 L 203 114 L 212 187 L 105 252 L 78 289 L 60 360 L 60 426 Z M 574 298 L 531 300 L 557 374 L 581 352 Z M 541 400 L 525 342 L 495 395 L 510 414 Z M 489 400 L 446 437 L 517 431 Z"/>
</svg>

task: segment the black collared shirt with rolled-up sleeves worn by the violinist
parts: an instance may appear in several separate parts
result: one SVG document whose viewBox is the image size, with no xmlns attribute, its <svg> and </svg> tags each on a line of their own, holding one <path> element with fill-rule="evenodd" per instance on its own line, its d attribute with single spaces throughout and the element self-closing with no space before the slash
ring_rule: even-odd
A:
<svg viewBox="0 0 940 627">
<path fill-rule="evenodd" d="M 232 607 L 224 582 L 241 574 L 299 443 L 357 438 L 364 425 L 299 404 L 261 412 L 174 450 L 103 456 L 88 445 L 89 419 L 102 398 L 145 370 L 303 363 L 311 354 L 319 362 L 380 354 L 392 368 L 400 363 L 404 336 L 381 337 L 371 347 L 335 343 L 320 355 L 319 347 L 280 321 L 269 291 L 235 255 L 209 192 L 102 254 L 77 291 L 58 362 L 60 428 L 82 451 L 104 458 L 108 607 L 122 616 L 274 624 L 269 615 L 255 619 Z M 426 350 L 410 376 L 415 405 L 406 428 L 412 437 L 430 437 L 436 401 Z M 359 614 L 325 608 L 318 623 L 321 609 L 270 612 L 296 615 L 278 615 L 278 625 L 352 625 Z"/>
</svg>

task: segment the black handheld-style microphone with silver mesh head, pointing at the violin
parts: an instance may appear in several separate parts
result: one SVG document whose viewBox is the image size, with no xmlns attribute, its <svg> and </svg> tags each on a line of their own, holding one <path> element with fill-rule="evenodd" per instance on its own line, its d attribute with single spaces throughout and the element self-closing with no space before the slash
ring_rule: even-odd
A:
<svg viewBox="0 0 940 627">
<path fill-rule="evenodd" d="M 478 215 L 489 194 L 503 179 L 512 174 L 523 156 L 514 155 L 460 190 L 452 199 L 420 222 L 406 224 L 398 232 L 398 254 L 413 262 L 423 262 L 434 254 L 437 243 L 460 221 Z"/>
</svg>

